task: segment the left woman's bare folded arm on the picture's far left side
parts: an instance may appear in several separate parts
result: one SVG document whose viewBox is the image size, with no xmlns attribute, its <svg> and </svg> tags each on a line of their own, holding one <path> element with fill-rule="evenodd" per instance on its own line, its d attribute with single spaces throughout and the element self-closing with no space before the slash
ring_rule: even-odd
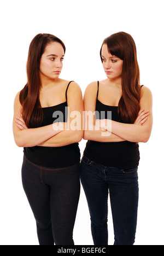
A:
<svg viewBox="0 0 164 256">
<path fill-rule="evenodd" d="M 18 117 L 18 118 L 17 118 Z M 46 139 L 55 136 L 57 133 L 63 130 L 61 124 L 58 129 L 54 129 L 53 125 L 39 127 L 35 129 L 21 129 L 21 104 L 19 101 L 19 93 L 15 97 L 14 101 L 14 118 L 13 118 L 13 133 L 15 143 L 18 147 L 34 147 L 40 144 Z M 55 126 L 57 127 L 57 126 Z"/>
</svg>

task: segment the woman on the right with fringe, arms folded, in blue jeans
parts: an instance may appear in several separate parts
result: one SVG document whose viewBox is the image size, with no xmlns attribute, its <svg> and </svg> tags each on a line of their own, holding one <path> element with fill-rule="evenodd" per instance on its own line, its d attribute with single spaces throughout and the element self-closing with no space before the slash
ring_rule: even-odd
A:
<svg viewBox="0 0 164 256">
<path fill-rule="evenodd" d="M 120 32 L 106 38 L 100 56 L 107 79 L 91 83 L 85 91 L 84 139 L 88 142 L 81 161 L 81 183 L 89 205 L 94 244 L 108 245 L 109 193 L 114 245 L 133 245 L 138 209 L 138 142 L 147 142 L 150 137 L 152 96 L 148 88 L 139 85 L 136 45 L 130 34 Z M 95 110 L 96 120 L 88 121 L 86 113 Z"/>
</svg>

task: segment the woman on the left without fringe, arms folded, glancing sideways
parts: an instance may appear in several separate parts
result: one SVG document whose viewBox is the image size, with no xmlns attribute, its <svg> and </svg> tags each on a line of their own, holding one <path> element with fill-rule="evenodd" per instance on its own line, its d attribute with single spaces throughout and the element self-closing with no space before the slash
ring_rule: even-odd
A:
<svg viewBox="0 0 164 256">
<path fill-rule="evenodd" d="M 83 129 L 71 130 L 70 125 L 72 111 L 82 116 L 83 97 L 78 84 L 59 78 L 65 51 L 63 42 L 51 34 L 32 40 L 28 81 L 14 103 L 14 138 L 24 147 L 22 183 L 40 245 L 74 244 Z"/>
</svg>

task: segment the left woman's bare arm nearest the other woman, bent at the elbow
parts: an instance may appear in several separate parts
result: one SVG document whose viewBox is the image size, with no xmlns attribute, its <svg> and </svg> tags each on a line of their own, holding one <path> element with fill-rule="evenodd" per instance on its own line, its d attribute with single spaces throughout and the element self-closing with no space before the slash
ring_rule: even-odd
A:
<svg viewBox="0 0 164 256">
<path fill-rule="evenodd" d="M 67 92 L 68 121 L 66 128 L 54 137 L 40 143 L 43 147 L 62 147 L 80 142 L 83 138 L 83 96 L 77 83 L 71 83 Z"/>
</svg>

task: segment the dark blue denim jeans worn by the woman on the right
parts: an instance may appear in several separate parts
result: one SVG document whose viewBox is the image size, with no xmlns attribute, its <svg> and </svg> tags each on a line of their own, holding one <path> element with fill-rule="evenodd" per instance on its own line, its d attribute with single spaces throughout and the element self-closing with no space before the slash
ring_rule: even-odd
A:
<svg viewBox="0 0 164 256">
<path fill-rule="evenodd" d="M 108 245 L 108 194 L 114 245 L 133 245 L 137 226 L 138 168 L 123 170 L 107 167 L 90 161 L 86 156 L 83 156 L 80 166 L 94 245 Z"/>
</svg>

